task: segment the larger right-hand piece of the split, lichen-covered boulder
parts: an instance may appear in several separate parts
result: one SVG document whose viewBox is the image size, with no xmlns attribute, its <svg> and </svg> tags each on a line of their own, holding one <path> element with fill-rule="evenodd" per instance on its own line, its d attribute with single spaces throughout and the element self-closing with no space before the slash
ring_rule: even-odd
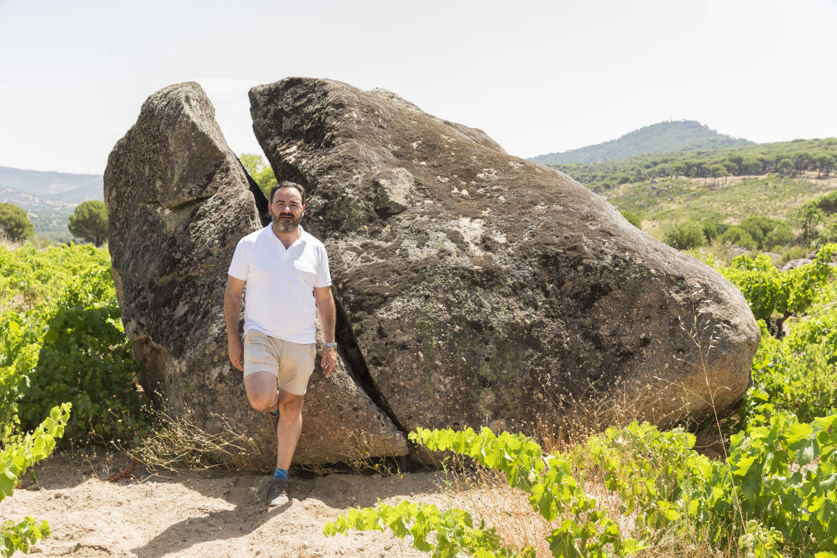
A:
<svg viewBox="0 0 837 558">
<path fill-rule="evenodd" d="M 353 373 L 400 427 L 613 401 L 672 422 L 742 397 L 759 340 L 742 295 L 578 182 L 388 91 L 249 95 L 277 177 L 311 192 Z"/>
</svg>

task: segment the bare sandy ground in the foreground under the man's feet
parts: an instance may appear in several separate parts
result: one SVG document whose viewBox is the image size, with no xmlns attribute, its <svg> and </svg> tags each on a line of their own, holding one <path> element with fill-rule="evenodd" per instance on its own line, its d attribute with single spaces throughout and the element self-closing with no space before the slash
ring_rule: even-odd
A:
<svg viewBox="0 0 837 558">
<path fill-rule="evenodd" d="M 122 463 L 125 465 L 126 463 Z M 2 520 L 33 515 L 49 521 L 52 536 L 31 553 L 44 556 L 250 557 L 426 556 L 389 533 L 326 537 L 326 521 L 382 499 L 412 499 L 449 507 L 442 476 L 328 474 L 291 479 L 291 501 L 267 509 L 264 476 L 138 474 L 119 476 L 119 463 L 50 458 L 38 482 L 0 503 Z"/>
</svg>

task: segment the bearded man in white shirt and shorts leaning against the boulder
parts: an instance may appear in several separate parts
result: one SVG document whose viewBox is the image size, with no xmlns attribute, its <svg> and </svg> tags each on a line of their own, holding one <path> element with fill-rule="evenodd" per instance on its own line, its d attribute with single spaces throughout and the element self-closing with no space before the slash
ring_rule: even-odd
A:
<svg viewBox="0 0 837 558">
<path fill-rule="evenodd" d="M 229 266 L 223 315 L 229 360 L 244 371 L 251 407 L 276 417 L 276 470 L 268 505 L 288 499 L 288 468 L 302 430 L 302 398 L 314 371 L 320 312 L 326 346 L 320 366 L 328 376 L 336 363 L 335 308 L 326 248 L 300 227 L 305 188 L 282 182 L 270 192 L 271 223 L 239 241 Z M 244 343 L 239 311 L 244 285 Z"/>
</svg>

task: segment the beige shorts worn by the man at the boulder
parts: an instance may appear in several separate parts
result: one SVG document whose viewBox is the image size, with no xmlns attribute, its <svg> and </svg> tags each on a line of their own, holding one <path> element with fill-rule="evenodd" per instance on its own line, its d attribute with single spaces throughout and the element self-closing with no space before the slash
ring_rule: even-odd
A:
<svg viewBox="0 0 837 558">
<path fill-rule="evenodd" d="M 257 330 L 244 335 L 244 377 L 270 372 L 281 389 L 294 395 L 306 394 L 315 358 L 314 343 L 291 343 Z"/>
</svg>

